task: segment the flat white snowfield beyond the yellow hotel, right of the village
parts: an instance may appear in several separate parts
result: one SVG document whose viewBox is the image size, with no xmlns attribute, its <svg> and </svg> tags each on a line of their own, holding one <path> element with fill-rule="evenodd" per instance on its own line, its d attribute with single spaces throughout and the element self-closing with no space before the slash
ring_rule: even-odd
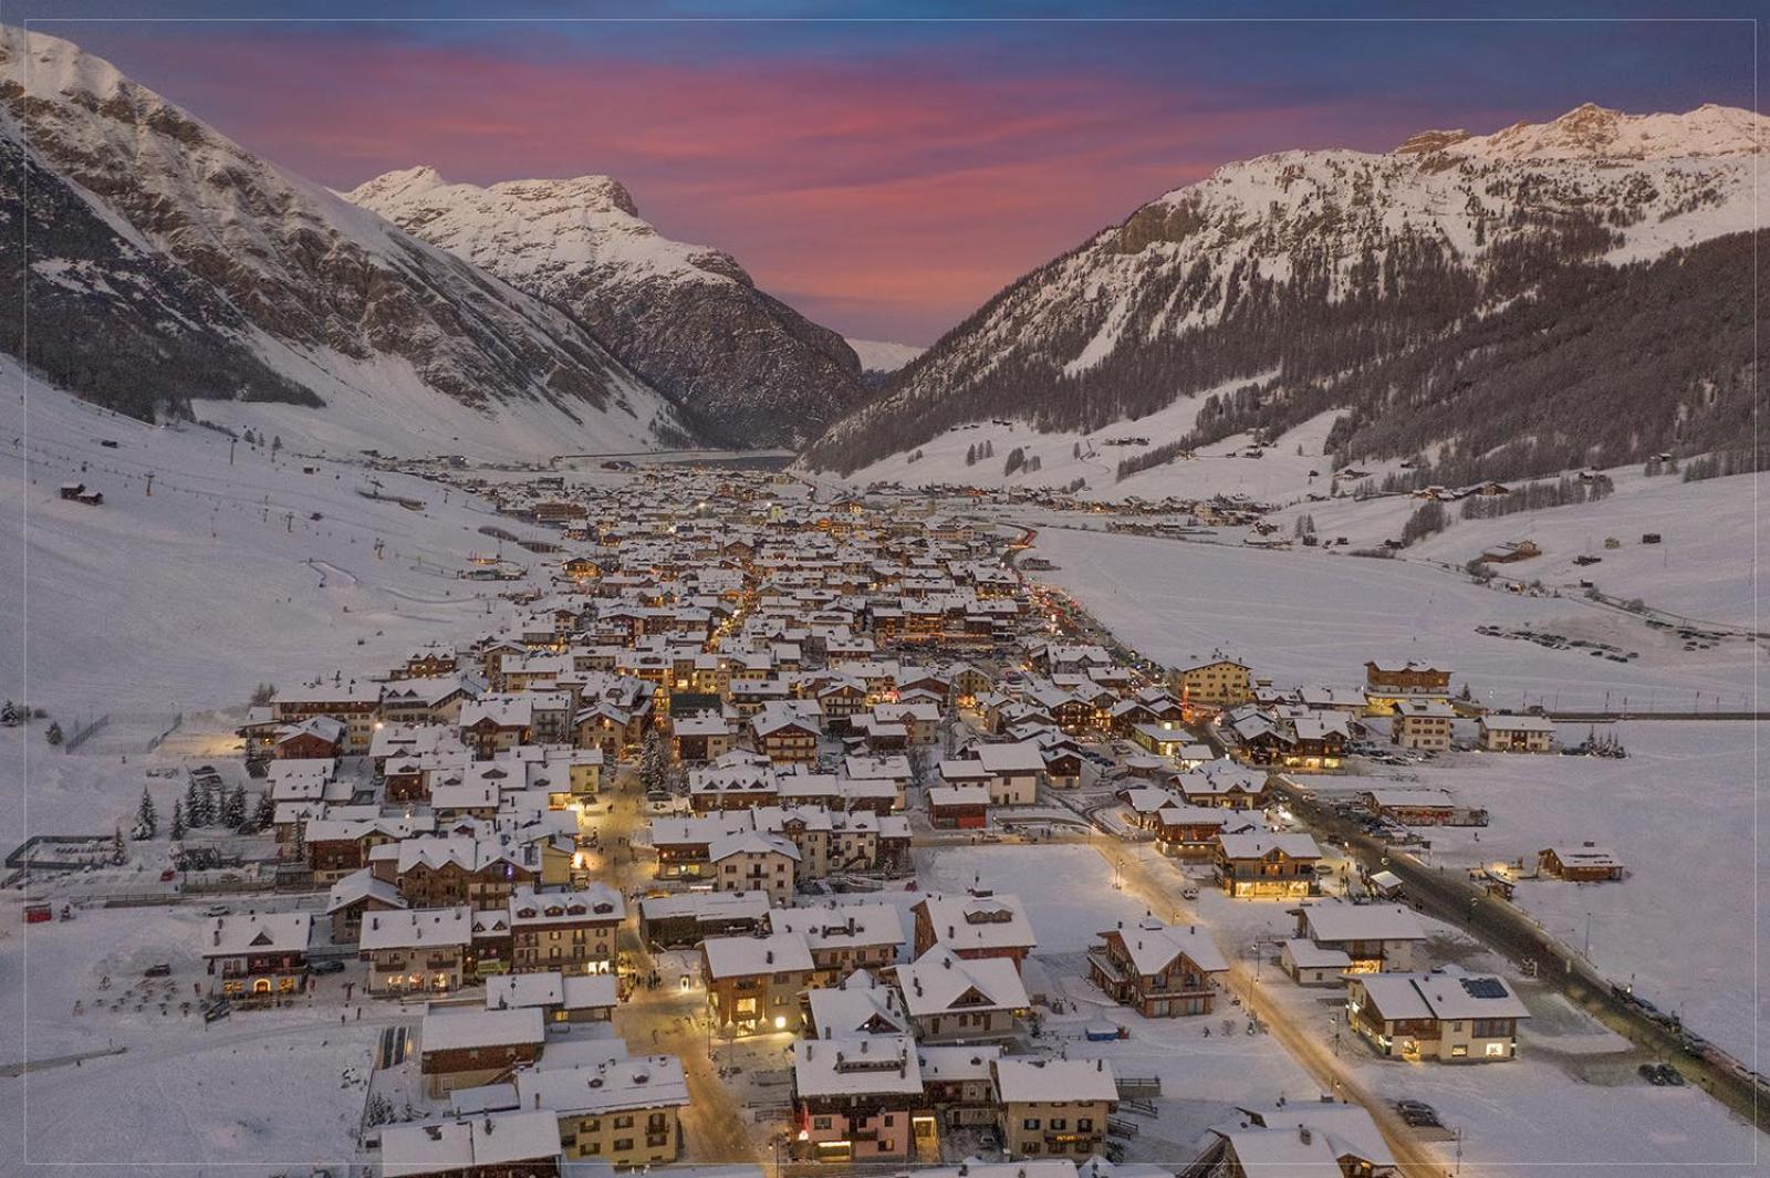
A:
<svg viewBox="0 0 1770 1178">
<path fill-rule="evenodd" d="M 1515 708 L 1605 700 L 1644 708 L 1751 706 L 1761 662 L 1745 640 L 1685 651 L 1639 619 L 1574 598 L 1483 587 L 1411 561 L 1266 552 L 1043 527 L 1034 548 L 1057 562 L 1043 580 L 1073 593 L 1143 654 L 1181 663 L 1223 651 L 1281 686 L 1363 683 L 1366 660 L 1448 665 L 1474 699 Z M 1579 649 L 1476 633 L 1535 628 L 1637 653 L 1627 663 Z"/>
</svg>

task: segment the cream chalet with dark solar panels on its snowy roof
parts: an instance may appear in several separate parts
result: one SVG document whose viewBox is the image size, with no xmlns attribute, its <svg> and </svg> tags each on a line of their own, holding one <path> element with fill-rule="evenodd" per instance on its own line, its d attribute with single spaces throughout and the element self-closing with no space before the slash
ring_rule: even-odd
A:
<svg viewBox="0 0 1770 1178">
<path fill-rule="evenodd" d="M 1377 1054 L 1446 1063 L 1515 1058 L 1519 1022 L 1531 1017 L 1504 980 L 1450 969 L 1356 975 L 1345 1010 Z"/>
</svg>

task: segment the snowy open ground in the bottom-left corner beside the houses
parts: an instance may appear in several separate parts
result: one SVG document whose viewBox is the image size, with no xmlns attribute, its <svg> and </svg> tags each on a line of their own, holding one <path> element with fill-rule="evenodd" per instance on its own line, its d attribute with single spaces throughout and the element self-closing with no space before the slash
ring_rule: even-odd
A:
<svg viewBox="0 0 1770 1178">
<path fill-rule="evenodd" d="M 193 983 L 207 991 L 189 953 L 196 909 L 85 909 L 73 923 L 27 927 L 16 899 L 0 907 L 0 1065 L 124 1049 L 0 1077 L 0 1174 L 57 1164 L 269 1174 L 349 1162 L 373 1040 L 396 1012 L 340 1024 L 338 996 L 326 992 L 336 983 L 320 980 L 312 1005 L 205 1026 L 181 1010 Z M 143 980 L 159 960 L 173 975 Z"/>
</svg>

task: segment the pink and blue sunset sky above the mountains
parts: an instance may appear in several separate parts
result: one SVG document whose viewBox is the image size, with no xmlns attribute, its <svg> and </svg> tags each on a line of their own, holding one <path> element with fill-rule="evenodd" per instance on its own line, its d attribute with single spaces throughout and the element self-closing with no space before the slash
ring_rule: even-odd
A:
<svg viewBox="0 0 1770 1178">
<path fill-rule="evenodd" d="M 1584 101 L 1635 111 L 1756 104 L 1752 27 L 1740 21 L 940 19 L 1078 11 L 1053 4 L 747 9 L 924 18 L 761 23 L 699 19 L 736 11 L 706 4 L 503 11 L 545 19 L 434 19 L 487 12 L 451 0 L 28 0 L 4 19 L 108 57 L 333 187 L 418 163 L 474 182 L 614 175 L 660 232 L 731 251 L 812 318 L 910 343 L 931 343 L 1007 281 L 1234 159 L 1289 147 L 1382 150 L 1425 127 L 1492 131 Z M 556 19 L 598 11 L 689 19 Z M 44 19 L 242 12 L 266 19 Z M 324 19 L 340 12 L 389 19 Z"/>
</svg>

